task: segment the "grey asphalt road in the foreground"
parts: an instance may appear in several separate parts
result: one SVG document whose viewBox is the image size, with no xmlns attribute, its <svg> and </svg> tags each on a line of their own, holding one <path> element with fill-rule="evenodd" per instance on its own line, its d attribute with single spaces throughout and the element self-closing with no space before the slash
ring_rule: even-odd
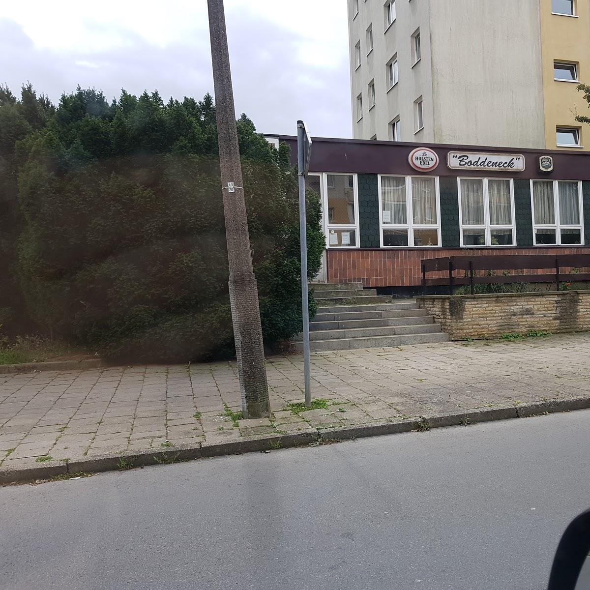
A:
<svg viewBox="0 0 590 590">
<path fill-rule="evenodd" d="M 590 411 L 0 489 L 0 588 L 546 587 Z"/>
</svg>

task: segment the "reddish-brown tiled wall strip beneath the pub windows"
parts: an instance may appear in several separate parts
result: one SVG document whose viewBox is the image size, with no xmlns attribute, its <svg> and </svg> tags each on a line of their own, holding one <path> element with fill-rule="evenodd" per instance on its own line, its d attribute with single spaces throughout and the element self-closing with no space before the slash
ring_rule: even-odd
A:
<svg viewBox="0 0 590 590">
<path fill-rule="evenodd" d="M 422 284 L 420 263 L 424 258 L 460 255 L 590 254 L 590 248 L 415 248 L 376 250 L 327 250 L 329 283 L 360 281 L 365 287 L 408 287 Z M 539 271 L 540 272 L 540 271 Z M 547 271 L 552 273 L 551 270 Z M 429 278 L 445 276 L 429 273 Z"/>
</svg>

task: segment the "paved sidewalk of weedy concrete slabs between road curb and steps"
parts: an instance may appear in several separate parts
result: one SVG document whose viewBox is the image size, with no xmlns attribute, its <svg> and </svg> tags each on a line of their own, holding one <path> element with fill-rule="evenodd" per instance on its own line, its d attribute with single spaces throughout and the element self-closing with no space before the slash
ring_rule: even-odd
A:
<svg viewBox="0 0 590 590">
<path fill-rule="evenodd" d="M 0 473 L 74 461 L 590 398 L 590 333 L 268 359 L 272 419 L 243 420 L 235 362 L 0 374 Z M 1 373 L 1 367 L 0 367 Z M 51 457 L 51 460 L 45 458 Z"/>
</svg>

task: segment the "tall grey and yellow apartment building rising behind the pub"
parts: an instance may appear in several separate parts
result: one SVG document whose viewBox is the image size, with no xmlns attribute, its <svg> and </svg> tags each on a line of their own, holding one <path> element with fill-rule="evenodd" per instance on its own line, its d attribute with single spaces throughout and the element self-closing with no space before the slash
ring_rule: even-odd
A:
<svg viewBox="0 0 590 590">
<path fill-rule="evenodd" d="M 355 139 L 590 150 L 590 0 L 347 0 Z"/>
</svg>

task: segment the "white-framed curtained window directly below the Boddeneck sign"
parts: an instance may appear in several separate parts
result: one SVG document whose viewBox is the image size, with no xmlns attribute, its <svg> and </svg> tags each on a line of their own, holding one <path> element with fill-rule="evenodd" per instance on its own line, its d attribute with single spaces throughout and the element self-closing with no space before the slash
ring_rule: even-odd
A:
<svg viewBox="0 0 590 590">
<path fill-rule="evenodd" d="M 509 179 L 460 178 L 461 246 L 513 246 L 514 187 Z"/>
</svg>

